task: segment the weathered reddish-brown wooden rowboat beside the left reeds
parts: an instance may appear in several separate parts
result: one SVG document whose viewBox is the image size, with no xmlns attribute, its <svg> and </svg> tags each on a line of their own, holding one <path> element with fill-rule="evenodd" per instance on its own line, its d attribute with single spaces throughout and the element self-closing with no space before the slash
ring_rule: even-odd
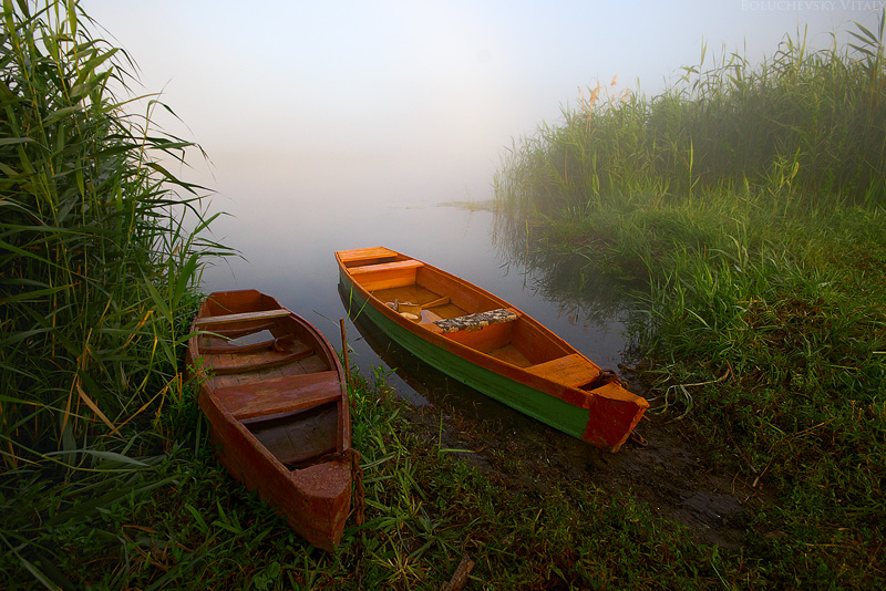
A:
<svg viewBox="0 0 886 591">
<path fill-rule="evenodd" d="M 255 290 L 209 296 L 188 366 L 228 471 L 313 546 L 341 540 L 351 502 L 351 426 L 336 351 L 308 321 Z"/>
</svg>

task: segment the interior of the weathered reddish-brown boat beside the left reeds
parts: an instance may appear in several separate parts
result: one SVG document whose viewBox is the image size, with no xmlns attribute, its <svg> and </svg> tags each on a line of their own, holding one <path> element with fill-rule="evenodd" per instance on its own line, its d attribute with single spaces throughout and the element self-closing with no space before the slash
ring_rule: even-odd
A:
<svg viewBox="0 0 886 591">
<path fill-rule="evenodd" d="M 218 403 L 290 468 L 341 452 L 342 387 L 317 336 L 257 291 L 220 294 L 204 310 L 198 351 Z"/>
</svg>

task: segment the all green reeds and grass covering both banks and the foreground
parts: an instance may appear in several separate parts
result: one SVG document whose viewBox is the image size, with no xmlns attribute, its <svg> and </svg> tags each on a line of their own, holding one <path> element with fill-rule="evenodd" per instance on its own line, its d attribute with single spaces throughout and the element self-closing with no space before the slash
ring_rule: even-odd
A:
<svg viewBox="0 0 886 591">
<path fill-rule="evenodd" d="M 76 1 L 2 6 L 0 585 L 439 589 L 468 554 L 468 589 L 883 587 L 882 25 L 852 54 L 787 42 L 650 101 L 594 94 L 497 178 L 519 256 L 648 284 L 652 424 L 753 492 L 741 545 L 552 463 L 557 434 L 522 452 L 378 371 L 351 390 L 367 522 L 324 553 L 219 468 L 182 379 L 225 251 L 169 172 L 189 144 L 113 95 L 126 58 Z"/>
</svg>

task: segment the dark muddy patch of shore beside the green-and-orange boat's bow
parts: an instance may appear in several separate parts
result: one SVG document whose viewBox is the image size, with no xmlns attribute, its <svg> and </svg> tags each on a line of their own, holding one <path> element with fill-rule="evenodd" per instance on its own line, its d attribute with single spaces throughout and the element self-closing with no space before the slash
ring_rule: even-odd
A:
<svg viewBox="0 0 886 591">
<path fill-rule="evenodd" d="M 444 395 L 424 395 L 431 405 L 409 412 L 414 428 L 441 448 L 466 450 L 464 459 L 495 484 L 544 495 L 552 487 L 585 483 L 632 495 L 701 543 L 744 545 L 745 508 L 759 500 L 759 491 L 738 476 L 738 468 L 715 465 L 683 422 L 650 412 L 637 436 L 612 454 L 456 384 L 447 384 Z"/>
</svg>

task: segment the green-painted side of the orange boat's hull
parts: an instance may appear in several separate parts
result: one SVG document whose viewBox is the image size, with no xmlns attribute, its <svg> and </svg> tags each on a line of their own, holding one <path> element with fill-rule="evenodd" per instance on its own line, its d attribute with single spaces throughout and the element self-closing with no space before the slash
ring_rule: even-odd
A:
<svg viewBox="0 0 886 591">
<path fill-rule="evenodd" d="M 446 375 L 473 387 L 512 408 L 532 416 L 568 435 L 583 438 L 588 425 L 589 409 L 580 408 L 556 396 L 535 390 L 522 382 L 472 363 L 442 346 L 391 321 L 352 289 L 351 280 L 341 276 L 341 284 L 350 294 L 351 309 L 368 318 L 400 346 Z"/>
</svg>

